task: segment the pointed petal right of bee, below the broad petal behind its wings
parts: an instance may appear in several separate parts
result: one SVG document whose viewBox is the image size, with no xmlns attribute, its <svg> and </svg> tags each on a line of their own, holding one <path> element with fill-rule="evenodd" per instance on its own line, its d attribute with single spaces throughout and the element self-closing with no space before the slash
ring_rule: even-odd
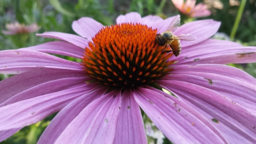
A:
<svg viewBox="0 0 256 144">
<path fill-rule="evenodd" d="M 205 54 L 233 50 L 234 47 L 241 47 L 241 46 L 242 46 L 241 44 L 238 44 L 235 42 L 223 41 L 220 39 L 206 39 L 201 43 L 182 47 L 179 57 L 175 57 L 175 58 L 171 57 L 171 58 L 173 60 L 175 59 L 175 61 L 182 62 L 183 60 L 187 60 L 196 56 L 198 57 Z"/>
</svg>

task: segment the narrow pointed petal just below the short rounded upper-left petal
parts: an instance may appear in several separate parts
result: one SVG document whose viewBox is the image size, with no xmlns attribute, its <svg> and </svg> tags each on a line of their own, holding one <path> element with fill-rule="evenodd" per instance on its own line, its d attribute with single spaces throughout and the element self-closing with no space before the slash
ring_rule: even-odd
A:
<svg viewBox="0 0 256 144">
<path fill-rule="evenodd" d="M 47 38 L 57 38 L 62 41 L 66 41 L 76 46 L 82 47 L 83 49 L 85 49 L 85 47 L 88 47 L 88 43 L 89 43 L 89 40 L 83 37 L 79 37 L 73 34 L 60 33 L 60 32 L 50 31 L 50 32 L 45 32 L 43 34 L 36 34 L 36 35 L 41 37 L 47 37 Z"/>
</svg>

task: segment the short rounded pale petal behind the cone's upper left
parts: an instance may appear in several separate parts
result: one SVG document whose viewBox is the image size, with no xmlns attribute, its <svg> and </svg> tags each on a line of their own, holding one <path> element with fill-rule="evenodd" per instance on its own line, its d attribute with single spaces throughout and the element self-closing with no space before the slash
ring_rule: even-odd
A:
<svg viewBox="0 0 256 144">
<path fill-rule="evenodd" d="M 81 18 L 72 23 L 73 30 L 82 37 L 92 41 L 92 37 L 99 32 L 103 25 L 92 18 Z"/>
</svg>

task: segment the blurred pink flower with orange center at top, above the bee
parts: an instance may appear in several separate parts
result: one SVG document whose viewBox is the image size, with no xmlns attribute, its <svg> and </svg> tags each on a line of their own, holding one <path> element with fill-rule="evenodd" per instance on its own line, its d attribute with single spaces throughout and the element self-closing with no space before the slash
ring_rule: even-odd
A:
<svg viewBox="0 0 256 144">
<path fill-rule="evenodd" d="M 199 3 L 196 5 L 196 0 L 172 0 L 174 6 L 183 14 L 191 18 L 207 17 L 211 12 L 207 10 L 207 5 Z"/>
</svg>

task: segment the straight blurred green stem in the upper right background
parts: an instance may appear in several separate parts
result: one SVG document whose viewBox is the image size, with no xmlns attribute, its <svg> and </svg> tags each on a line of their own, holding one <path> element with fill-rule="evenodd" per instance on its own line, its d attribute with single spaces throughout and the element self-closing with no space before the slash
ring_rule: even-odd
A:
<svg viewBox="0 0 256 144">
<path fill-rule="evenodd" d="M 237 31 L 237 28 L 239 26 L 239 22 L 241 20 L 241 17 L 242 17 L 243 11 L 244 11 L 245 3 L 246 3 L 246 0 L 242 0 L 241 5 L 240 5 L 239 10 L 238 10 L 237 15 L 236 15 L 236 21 L 234 23 L 233 29 L 232 29 L 231 34 L 230 34 L 230 41 L 234 41 L 234 37 L 236 35 L 236 31 Z"/>
</svg>

